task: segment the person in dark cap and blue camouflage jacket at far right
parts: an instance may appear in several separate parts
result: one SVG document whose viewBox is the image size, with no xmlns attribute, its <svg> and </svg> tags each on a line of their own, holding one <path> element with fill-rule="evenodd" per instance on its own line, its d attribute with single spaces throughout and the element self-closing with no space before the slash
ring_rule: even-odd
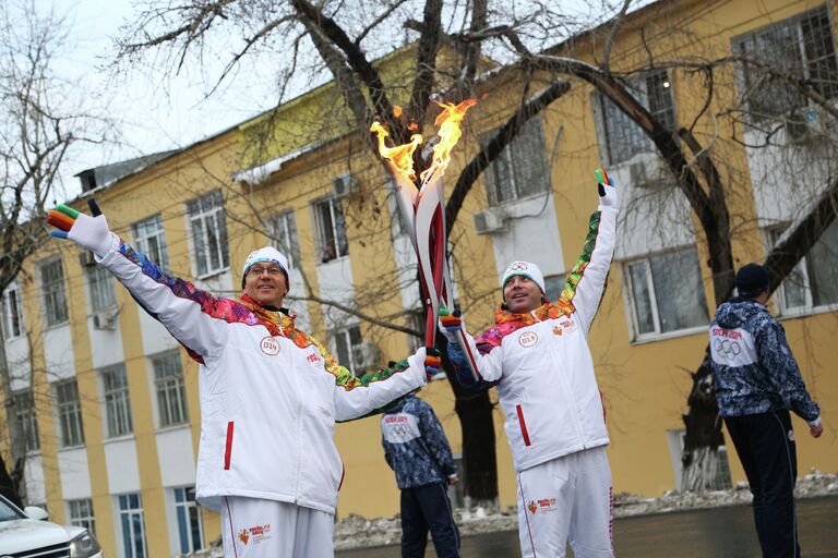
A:
<svg viewBox="0 0 838 558">
<path fill-rule="evenodd" d="M 799 557 L 794 483 L 798 463 L 789 410 L 810 434 L 823 433 L 821 409 L 806 391 L 786 331 L 766 308 L 768 270 L 747 264 L 735 276 L 738 296 L 710 324 L 710 354 L 719 415 L 754 495 L 763 556 Z"/>
</svg>

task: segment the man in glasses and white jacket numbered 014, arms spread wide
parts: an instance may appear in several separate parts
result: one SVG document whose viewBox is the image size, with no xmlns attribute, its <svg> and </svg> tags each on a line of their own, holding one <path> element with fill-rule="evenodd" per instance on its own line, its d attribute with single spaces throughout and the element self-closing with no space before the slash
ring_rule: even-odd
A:
<svg viewBox="0 0 838 558">
<path fill-rule="evenodd" d="M 226 557 L 327 558 L 343 464 L 335 421 L 369 414 L 424 385 L 424 349 L 361 377 L 295 327 L 283 308 L 288 263 L 251 253 L 242 296 L 169 277 L 95 217 L 59 206 L 50 234 L 91 250 L 200 366 L 196 498 L 222 513 Z"/>
</svg>

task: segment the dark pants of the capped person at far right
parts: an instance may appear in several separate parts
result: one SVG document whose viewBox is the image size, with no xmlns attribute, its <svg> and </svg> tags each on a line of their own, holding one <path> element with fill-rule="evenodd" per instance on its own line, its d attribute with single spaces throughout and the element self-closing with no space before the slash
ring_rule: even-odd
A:
<svg viewBox="0 0 838 558">
<path fill-rule="evenodd" d="M 754 523 L 765 558 L 799 558 L 794 517 L 798 457 L 788 411 L 727 416 L 725 424 L 754 495 Z"/>
</svg>

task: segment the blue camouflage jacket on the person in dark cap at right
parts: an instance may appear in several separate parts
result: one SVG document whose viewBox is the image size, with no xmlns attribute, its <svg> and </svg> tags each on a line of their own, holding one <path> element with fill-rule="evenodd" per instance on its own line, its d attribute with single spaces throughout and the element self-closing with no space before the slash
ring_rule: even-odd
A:
<svg viewBox="0 0 838 558">
<path fill-rule="evenodd" d="M 750 299 L 723 303 L 709 333 L 720 416 L 789 409 L 807 423 L 818 418 L 821 410 L 806 391 L 786 330 L 763 304 Z"/>
</svg>

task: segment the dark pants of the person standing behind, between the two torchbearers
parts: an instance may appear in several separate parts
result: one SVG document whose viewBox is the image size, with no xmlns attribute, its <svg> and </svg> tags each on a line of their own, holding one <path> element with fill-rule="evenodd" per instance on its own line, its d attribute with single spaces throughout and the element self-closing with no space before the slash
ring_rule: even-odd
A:
<svg viewBox="0 0 838 558">
<path fill-rule="evenodd" d="M 459 558 L 459 532 L 442 483 L 402 490 L 402 558 L 424 556 L 429 529 L 439 558 Z"/>
</svg>

